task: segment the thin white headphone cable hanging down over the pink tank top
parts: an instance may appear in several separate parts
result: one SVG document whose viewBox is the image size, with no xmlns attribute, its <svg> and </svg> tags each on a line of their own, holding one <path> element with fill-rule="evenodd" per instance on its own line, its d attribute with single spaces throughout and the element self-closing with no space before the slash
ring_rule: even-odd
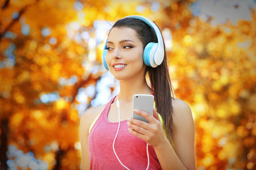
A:
<svg viewBox="0 0 256 170">
<path fill-rule="evenodd" d="M 115 79 L 114 79 L 114 89 L 116 91 L 116 94 L 117 94 L 117 86 L 116 86 L 116 83 L 115 83 Z M 117 135 L 118 135 L 118 132 L 119 132 L 119 128 L 120 128 L 120 104 L 119 104 L 119 100 L 118 100 L 118 96 L 117 96 L 117 112 L 118 112 L 118 128 L 117 128 L 117 134 L 115 135 L 114 137 L 114 141 L 113 141 L 113 151 L 114 151 L 114 154 L 115 156 L 117 157 L 117 160 L 119 161 L 120 164 L 122 164 L 122 162 L 120 161 L 119 157 L 117 156 L 117 152 L 115 152 L 114 150 L 114 142 L 116 141 L 117 139 Z M 146 170 L 149 169 L 149 145 L 146 143 L 146 156 L 147 156 L 147 160 L 148 160 L 148 164 L 146 166 Z M 125 166 L 124 164 L 122 164 L 122 166 L 124 166 L 125 169 L 128 169 L 127 166 Z"/>
</svg>

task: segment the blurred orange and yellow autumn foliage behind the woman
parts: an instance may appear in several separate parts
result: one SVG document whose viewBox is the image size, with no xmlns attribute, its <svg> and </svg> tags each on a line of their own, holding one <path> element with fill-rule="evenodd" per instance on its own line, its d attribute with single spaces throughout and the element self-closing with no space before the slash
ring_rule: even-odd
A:
<svg viewBox="0 0 256 170">
<path fill-rule="evenodd" d="M 190 104 L 198 169 L 255 169 L 255 1 L 0 3 L 1 169 L 80 169 L 80 115 L 107 103 L 107 31 L 142 15 L 162 30 L 177 98 Z"/>
</svg>

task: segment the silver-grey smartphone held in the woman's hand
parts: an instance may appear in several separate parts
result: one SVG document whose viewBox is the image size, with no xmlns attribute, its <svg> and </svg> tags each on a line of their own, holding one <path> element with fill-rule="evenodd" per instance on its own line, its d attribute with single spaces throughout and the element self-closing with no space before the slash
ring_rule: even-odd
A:
<svg viewBox="0 0 256 170">
<path fill-rule="evenodd" d="M 154 111 L 154 96 L 151 94 L 134 94 L 132 97 L 132 110 L 139 109 L 153 115 Z M 132 111 L 132 117 L 135 119 L 142 120 L 146 123 L 149 123 L 146 118 L 141 115 L 137 115 Z"/>
</svg>

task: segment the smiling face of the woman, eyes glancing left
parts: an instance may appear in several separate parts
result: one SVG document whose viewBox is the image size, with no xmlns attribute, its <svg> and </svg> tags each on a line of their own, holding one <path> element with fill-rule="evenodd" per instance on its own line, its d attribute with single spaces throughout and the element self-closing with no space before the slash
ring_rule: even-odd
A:
<svg viewBox="0 0 256 170">
<path fill-rule="evenodd" d="M 107 40 L 107 66 L 116 79 L 144 77 L 143 44 L 136 30 L 114 27 Z"/>
</svg>

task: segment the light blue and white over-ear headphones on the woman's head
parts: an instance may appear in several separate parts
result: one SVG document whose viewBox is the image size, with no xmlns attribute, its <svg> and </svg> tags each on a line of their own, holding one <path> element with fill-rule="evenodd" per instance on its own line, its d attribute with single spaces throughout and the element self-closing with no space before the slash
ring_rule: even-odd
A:
<svg viewBox="0 0 256 170">
<path fill-rule="evenodd" d="M 153 21 L 143 16 L 127 16 L 124 18 L 140 19 L 154 29 L 156 33 L 157 42 L 149 42 L 146 45 L 143 52 L 143 61 L 144 61 L 144 64 L 146 64 L 149 67 L 157 67 L 158 65 L 160 65 L 164 60 L 164 40 L 156 24 Z M 106 55 L 107 55 L 107 41 L 105 42 L 105 47 L 102 53 L 102 63 L 104 64 L 105 68 L 108 70 L 109 68 L 107 67 Z"/>
</svg>

